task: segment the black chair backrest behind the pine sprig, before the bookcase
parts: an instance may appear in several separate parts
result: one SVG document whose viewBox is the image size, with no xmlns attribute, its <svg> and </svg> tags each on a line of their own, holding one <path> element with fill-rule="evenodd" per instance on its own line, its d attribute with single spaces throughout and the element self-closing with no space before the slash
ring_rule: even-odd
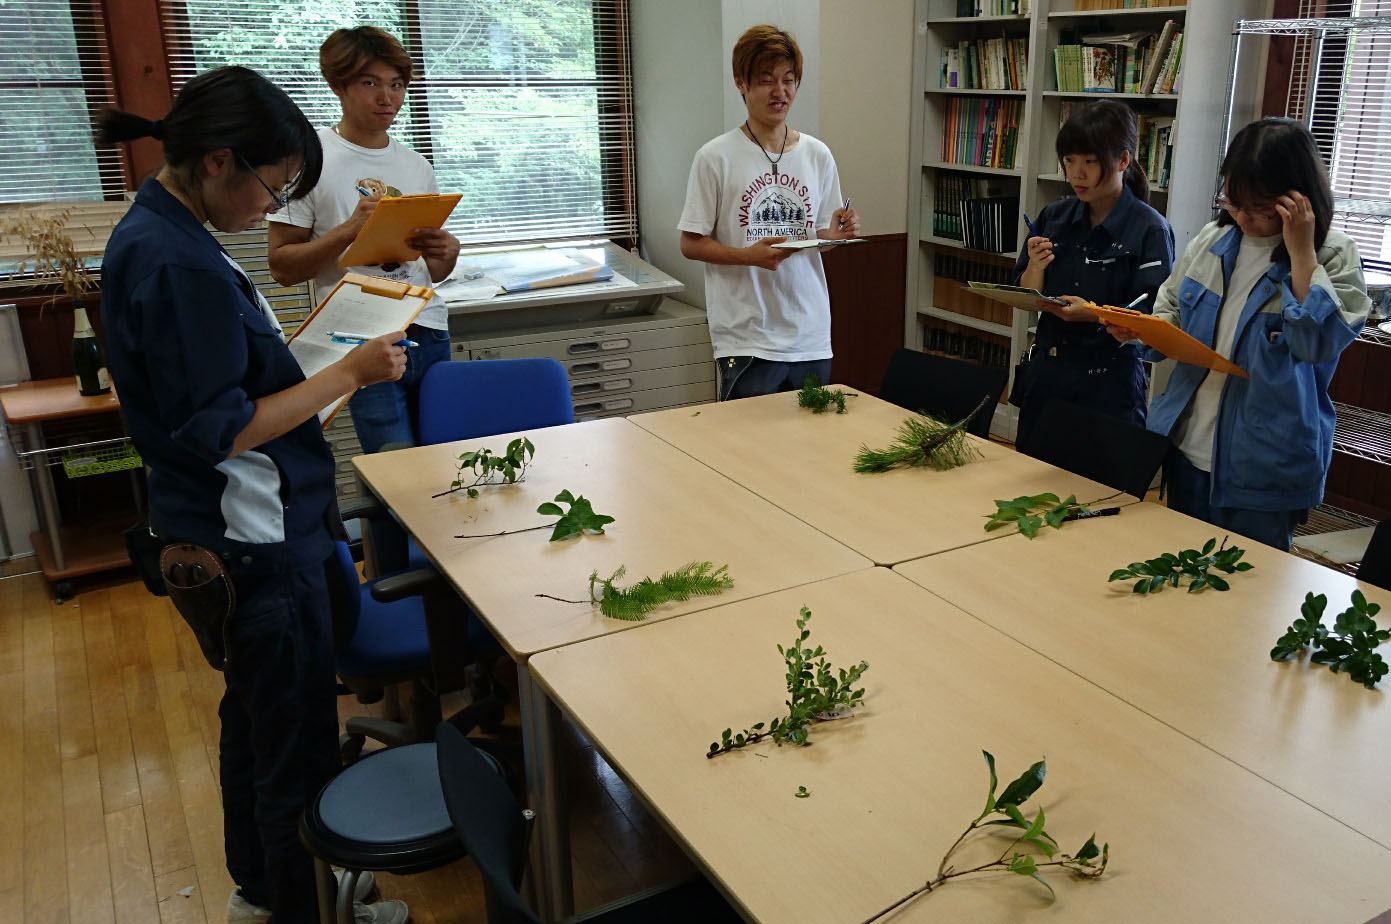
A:
<svg viewBox="0 0 1391 924">
<path fill-rule="evenodd" d="M 917 349 L 896 349 L 879 385 L 879 397 L 908 411 L 922 411 L 956 423 L 975 411 L 986 395 L 996 401 L 1010 380 L 1007 369 L 933 356 Z M 986 405 L 967 424 L 967 433 L 990 436 L 995 408 Z"/>
</svg>

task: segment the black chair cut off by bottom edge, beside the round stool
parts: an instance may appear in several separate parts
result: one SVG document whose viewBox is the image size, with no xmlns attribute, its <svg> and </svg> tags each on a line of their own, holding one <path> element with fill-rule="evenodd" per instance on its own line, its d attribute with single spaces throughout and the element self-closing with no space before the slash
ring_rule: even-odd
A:
<svg viewBox="0 0 1391 924">
<path fill-rule="evenodd" d="M 488 924 L 538 924 L 517 886 L 526 867 L 530 813 L 524 813 L 487 754 L 453 725 L 437 740 L 444 803 L 459 842 L 483 874 Z M 566 924 L 734 924 L 743 918 L 702 877 L 650 889 L 566 918 Z"/>
</svg>

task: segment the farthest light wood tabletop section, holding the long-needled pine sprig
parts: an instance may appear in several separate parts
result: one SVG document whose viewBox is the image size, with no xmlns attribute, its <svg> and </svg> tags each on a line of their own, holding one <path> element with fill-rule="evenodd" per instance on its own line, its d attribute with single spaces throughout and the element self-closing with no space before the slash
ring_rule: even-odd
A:
<svg viewBox="0 0 1391 924">
<path fill-rule="evenodd" d="M 1000 536 L 985 532 L 995 500 L 1077 494 L 1082 502 L 1113 488 L 976 437 L 982 458 L 949 472 L 926 468 L 858 475 L 861 445 L 893 443 L 911 416 L 872 395 L 846 401 L 846 413 L 812 413 L 794 392 L 673 408 L 629 417 L 758 497 L 850 545 L 876 565 L 893 565 Z M 1106 502 L 1135 502 L 1121 495 Z"/>
</svg>

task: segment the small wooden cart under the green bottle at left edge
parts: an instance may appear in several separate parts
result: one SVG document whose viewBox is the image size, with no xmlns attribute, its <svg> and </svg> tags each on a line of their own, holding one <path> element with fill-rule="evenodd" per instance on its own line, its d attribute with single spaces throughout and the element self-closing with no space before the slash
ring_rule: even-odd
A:
<svg viewBox="0 0 1391 924">
<path fill-rule="evenodd" d="M 104 395 L 85 397 L 78 394 L 74 377 L 25 381 L 0 387 L 0 411 L 4 412 L 8 426 L 19 429 L 18 455 L 33 472 L 33 488 L 39 498 L 43 529 L 29 539 L 45 579 L 58 583 L 58 598 L 68 596 L 72 578 L 129 565 L 131 558 L 125 552 L 121 536 L 121 530 L 129 526 L 129 522 L 96 526 L 88 523 L 81 527 L 63 525 L 50 472 L 56 461 L 49 458 L 50 454 L 68 449 L 97 449 L 127 443 L 124 434 L 100 440 L 82 434 L 83 419 L 120 413 L 121 405 L 115 398 L 115 390 Z M 71 438 L 61 445 L 50 445 L 43 424 L 58 422 L 72 424 L 67 433 Z M 132 475 L 132 490 L 139 507 L 138 473 Z"/>
</svg>

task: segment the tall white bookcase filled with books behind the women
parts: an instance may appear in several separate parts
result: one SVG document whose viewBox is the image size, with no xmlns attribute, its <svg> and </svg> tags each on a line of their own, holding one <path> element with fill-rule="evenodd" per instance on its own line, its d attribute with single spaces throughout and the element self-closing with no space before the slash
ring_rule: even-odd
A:
<svg viewBox="0 0 1391 924">
<path fill-rule="evenodd" d="M 1191 6 L 1163 6 L 1132 10 L 1077 10 L 1074 0 L 1032 0 L 1029 11 L 1004 17 L 957 17 L 956 0 L 917 0 L 914 10 L 914 83 L 912 124 L 908 167 L 908 255 L 907 299 L 904 306 L 904 344 L 925 349 L 925 331 L 936 327 L 961 334 L 990 346 L 981 348 L 986 358 L 999 362 L 1007 349 L 1013 370 L 1028 345 L 1036 320 L 1032 312 L 996 310 L 993 316 L 975 317 L 975 302 L 956 291 L 956 284 L 939 278 L 935 266 L 940 256 L 954 256 L 981 264 L 1011 266 L 1018 250 L 990 253 L 970 250 L 960 241 L 933 232 L 938 180 L 943 173 L 986 178 L 999 195 L 1018 195 L 1020 209 L 1029 216 L 1068 195 L 1059 173 L 1053 139 L 1063 103 L 1067 100 L 1118 99 L 1136 111 L 1174 117 L 1174 153 L 1167 188 L 1152 181 L 1150 203 L 1174 225 L 1177 250 L 1212 218 L 1212 195 L 1219 167 L 1219 135 L 1225 116 L 1221 86 L 1232 53 L 1232 24 L 1263 11 L 1267 0 L 1199 0 Z M 1082 32 L 1159 32 L 1166 19 L 1174 19 L 1184 32 L 1182 67 L 1177 93 L 1063 93 L 1057 90 L 1053 71 L 1053 47 L 1067 31 Z M 943 89 L 940 83 L 942 50 L 963 39 L 989 39 L 1024 33 L 1028 38 L 1025 88 L 1020 90 Z M 942 163 L 942 132 L 951 99 L 992 97 L 1018 100 L 1022 114 L 1014 164 L 1010 168 L 972 167 Z M 1018 241 L 1027 235 L 1022 220 Z M 1175 252 L 1177 257 L 1177 252 Z M 993 305 L 979 302 L 985 305 Z M 951 353 L 954 344 L 944 352 Z M 963 351 L 967 352 L 967 351 Z M 992 431 L 1013 438 L 1017 409 L 1000 404 Z"/>
</svg>

